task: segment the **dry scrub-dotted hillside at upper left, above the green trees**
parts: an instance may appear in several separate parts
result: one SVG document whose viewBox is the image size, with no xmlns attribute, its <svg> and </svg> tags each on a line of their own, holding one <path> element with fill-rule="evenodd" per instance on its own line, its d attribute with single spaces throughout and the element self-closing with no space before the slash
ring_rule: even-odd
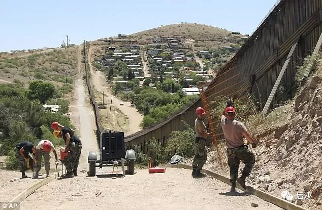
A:
<svg viewBox="0 0 322 210">
<path fill-rule="evenodd" d="M 75 73 L 76 51 L 76 47 L 71 47 L 2 56 L 0 79 L 13 82 L 19 80 L 26 86 L 30 80 L 41 79 L 55 81 L 60 86 L 66 77 L 73 77 Z"/>
</svg>

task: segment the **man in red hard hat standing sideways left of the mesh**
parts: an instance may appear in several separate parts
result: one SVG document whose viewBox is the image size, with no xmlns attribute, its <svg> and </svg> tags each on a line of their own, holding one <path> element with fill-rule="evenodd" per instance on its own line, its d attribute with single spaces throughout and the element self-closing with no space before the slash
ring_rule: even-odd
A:
<svg viewBox="0 0 322 210">
<path fill-rule="evenodd" d="M 212 133 L 207 133 L 206 125 L 203 121 L 205 116 L 205 110 L 202 107 L 196 109 L 197 118 L 195 120 L 195 156 L 194 161 L 192 161 L 192 177 L 202 177 L 201 173 L 202 167 L 207 160 L 207 150 L 206 150 L 206 138 Z"/>
</svg>

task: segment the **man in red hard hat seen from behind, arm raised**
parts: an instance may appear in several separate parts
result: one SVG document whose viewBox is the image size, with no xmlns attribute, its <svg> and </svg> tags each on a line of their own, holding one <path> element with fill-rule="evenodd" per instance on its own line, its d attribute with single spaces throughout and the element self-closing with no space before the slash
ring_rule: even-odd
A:
<svg viewBox="0 0 322 210">
<path fill-rule="evenodd" d="M 235 119 L 235 107 L 231 100 L 227 101 L 227 106 L 222 111 L 220 124 L 227 145 L 230 182 L 232 183 L 231 192 L 236 191 L 236 181 L 246 189 L 245 179 L 249 176 L 254 166 L 255 156 L 248 150 L 248 146 L 244 144 L 243 137 L 250 143 L 257 144 L 258 142 L 253 140 L 245 125 Z M 245 167 L 241 177 L 238 178 L 240 161 L 245 164 Z"/>
</svg>

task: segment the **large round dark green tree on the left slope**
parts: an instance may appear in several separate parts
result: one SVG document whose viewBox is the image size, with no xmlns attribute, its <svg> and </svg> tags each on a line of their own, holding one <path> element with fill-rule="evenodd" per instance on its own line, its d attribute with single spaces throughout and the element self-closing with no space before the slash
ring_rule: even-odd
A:
<svg viewBox="0 0 322 210">
<path fill-rule="evenodd" d="M 50 82 L 41 80 L 31 81 L 27 97 L 30 100 L 38 99 L 42 104 L 45 104 L 48 99 L 53 97 L 55 90 L 54 85 Z"/>
</svg>

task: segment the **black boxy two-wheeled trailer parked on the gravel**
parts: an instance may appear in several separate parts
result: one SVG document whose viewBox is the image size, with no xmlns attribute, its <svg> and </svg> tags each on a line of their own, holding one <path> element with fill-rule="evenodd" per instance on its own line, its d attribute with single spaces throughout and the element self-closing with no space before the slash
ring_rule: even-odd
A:
<svg viewBox="0 0 322 210">
<path fill-rule="evenodd" d="M 134 174 L 135 151 L 126 150 L 124 145 L 124 132 L 105 132 L 100 136 L 100 159 L 97 159 L 96 152 L 89 152 L 88 176 L 96 174 L 96 167 L 103 166 L 122 166 L 123 176 L 125 177 L 124 165 L 127 165 L 127 173 Z M 99 163 L 99 164 L 96 164 Z"/>
</svg>

